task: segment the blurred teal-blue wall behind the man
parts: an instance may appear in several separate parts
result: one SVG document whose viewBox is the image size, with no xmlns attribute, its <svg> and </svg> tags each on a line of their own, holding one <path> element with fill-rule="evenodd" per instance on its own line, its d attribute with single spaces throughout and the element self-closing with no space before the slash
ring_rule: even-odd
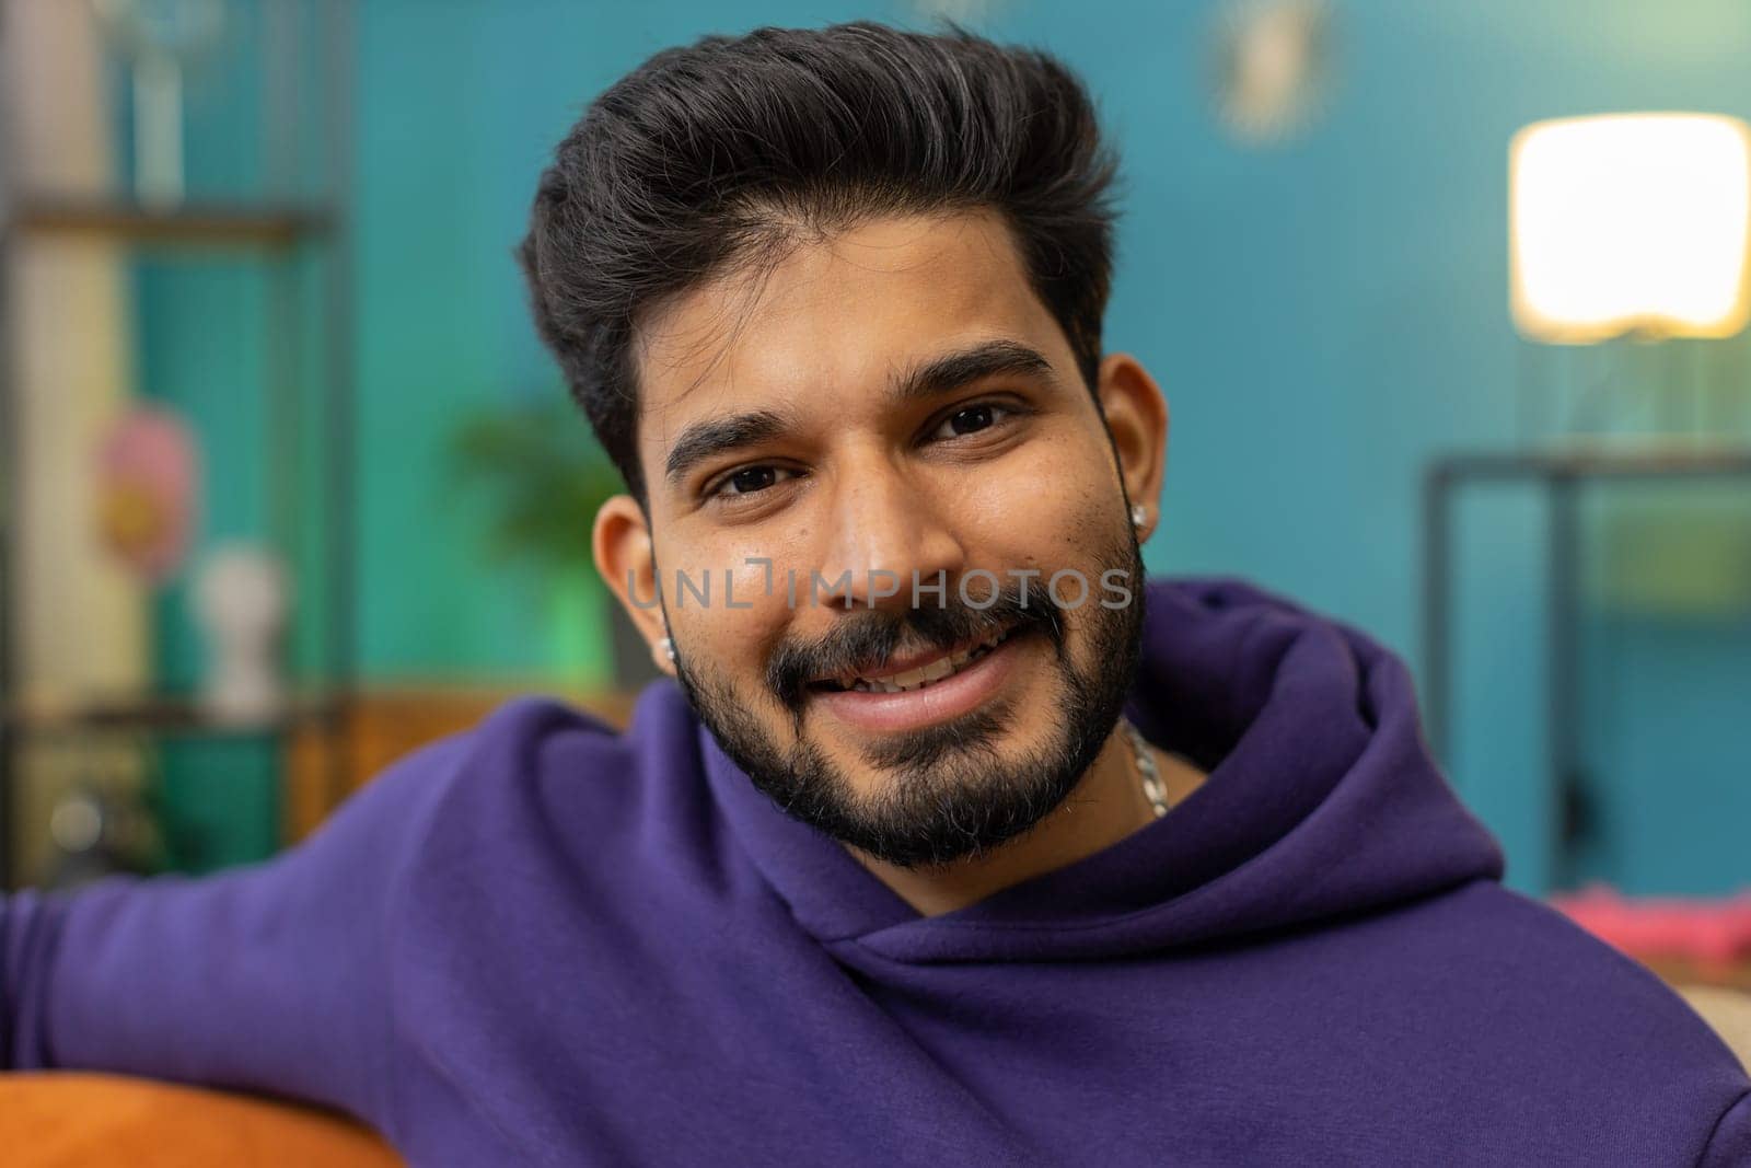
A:
<svg viewBox="0 0 1751 1168">
<path fill-rule="evenodd" d="M 911 9 L 359 7 L 366 665 L 527 671 L 541 660 L 539 590 L 480 567 L 478 515 L 447 494 L 440 450 L 462 406 L 557 392 L 510 259 L 546 154 L 590 96 L 658 47 L 762 23 L 909 19 Z M 1751 116 L 1751 5 L 1340 4 L 1327 117 L 1273 151 L 1240 149 L 1215 128 L 1208 21 L 1210 5 L 1191 2 L 1014 0 L 984 28 L 1080 68 L 1124 151 L 1108 345 L 1140 354 L 1173 410 L 1150 566 L 1252 576 L 1418 664 L 1420 468 L 1438 448 L 1515 436 L 1523 373 L 1506 315 L 1509 135 L 1618 109 Z M 1555 368 L 1571 355 L 1557 354 Z M 1747 492 L 1714 501 L 1751 511 Z M 1683 504 L 1663 506 L 1683 522 Z M 1590 546 L 1609 541 L 1607 511 L 1590 504 Z M 588 522 L 580 515 L 580 531 Z M 1452 758 L 1455 785 L 1508 844 L 1511 883 L 1534 890 L 1548 881 L 1550 834 L 1539 522 L 1513 492 L 1464 508 Z M 1590 594 L 1606 590 L 1597 571 L 1588 581 Z M 1586 870 L 1642 891 L 1751 881 L 1733 827 L 1751 821 L 1751 620 L 1730 602 L 1676 616 L 1600 611 L 1586 653 L 1588 756 L 1607 811 Z"/>
</svg>

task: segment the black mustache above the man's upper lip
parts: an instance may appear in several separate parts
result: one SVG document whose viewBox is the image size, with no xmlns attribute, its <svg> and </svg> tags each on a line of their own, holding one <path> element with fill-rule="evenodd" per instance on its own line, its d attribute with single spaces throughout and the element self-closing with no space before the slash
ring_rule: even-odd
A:
<svg viewBox="0 0 1751 1168">
<path fill-rule="evenodd" d="M 786 639 L 767 662 L 767 688 L 793 714 L 802 713 L 809 683 L 851 672 L 881 669 L 902 646 L 947 653 L 993 632 L 1042 632 L 1063 655 L 1065 616 L 1045 588 L 1026 597 L 1014 583 L 1000 587 L 988 604 L 946 604 L 907 609 L 868 609 L 847 615 L 816 641 Z"/>
</svg>

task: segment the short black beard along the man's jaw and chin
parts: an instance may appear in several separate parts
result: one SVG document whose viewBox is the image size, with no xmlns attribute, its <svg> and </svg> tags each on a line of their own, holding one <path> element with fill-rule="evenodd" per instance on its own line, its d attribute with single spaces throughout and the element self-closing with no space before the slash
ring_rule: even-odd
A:
<svg viewBox="0 0 1751 1168">
<path fill-rule="evenodd" d="M 676 676 L 723 753 L 786 814 L 893 867 L 942 869 L 981 856 L 1045 820 L 1077 788 L 1117 725 L 1142 658 L 1143 559 L 1129 527 L 1100 559 L 1094 578 L 1105 580 L 1103 573 L 1115 569 L 1129 573 L 1124 580 L 1131 601 L 1105 608 L 1091 587 L 1079 606 L 1087 630 L 1087 669 L 1077 669 L 1065 650 L 1068 609 L 1038 581 L 1028 588 L 1026 604 L 1010 587 L 982 609 L 867 609 L 863 616 L 846 616 L 819 643 L 779 644 L 767 669 L 765 697 L 777 699 L 793 718 L 795 744 L 788 749 L 762 730 L 753 713 L 760 695 L 739 695 L 720 674 L 685 658 L 676 662 Z M 1040 580 L 1047 578 L 1049 573 Z M 947 595 L 944 604 L 951 604 Z M 884 735 L 865 748 L 870 767 L 895 776 L 874 799 L 858 797 L 844 772 L 802 735 L 809 678 L 881 660 L 902 643 L 949 650 L 968 636 L 1017 620 L 1010 639 L 1045 637 L 1065 683 L 1063 700 L 1052 706 L 1056 727 L 1049 741 L 1024 758 L 1003 762 L 996 741 L 1017 716 L 1045 718 L 1052 711 L 1017 714 L 1007 699 L 953 721 Z"/>
</svg>

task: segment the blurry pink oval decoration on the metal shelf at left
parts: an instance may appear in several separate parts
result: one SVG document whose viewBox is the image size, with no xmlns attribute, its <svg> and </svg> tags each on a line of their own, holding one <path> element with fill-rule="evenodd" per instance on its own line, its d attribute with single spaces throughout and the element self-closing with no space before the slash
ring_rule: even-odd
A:
<svg viewBox="0 0 1751 1168">
<path fill-rule="evenodd" d="M 135 406 L 98 450 L 98 538 L 163 583 L 187 553 L 198 492 L 200 452 L 187 424 L 161 406 Z"/>
</svg>

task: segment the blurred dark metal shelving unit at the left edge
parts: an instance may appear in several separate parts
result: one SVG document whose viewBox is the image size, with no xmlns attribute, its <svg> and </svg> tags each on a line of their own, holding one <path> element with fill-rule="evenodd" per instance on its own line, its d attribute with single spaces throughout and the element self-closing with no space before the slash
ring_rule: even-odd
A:
<svg viewBox="0 0 1751 1168">
<path fill-rule="evenodd" d="M 4 16 L 4 12 L 0 12 Z M 289 25 L 270 19 L 264 42 L 275 35 L 291 37 Z M 347 790 L 345 735 L 355 702 L 354 660 L 354 385 L 352 385 L 352 252 L 343 194 L 350 187 L 350 4 L 347 0 L 320 0 L 317 12 L 319 39 L 305 46 L 320 54 L 326 117 L 320 123 L 326 145 L 326 194 L 315 201 L 198 201 L 191 200 L 173 210 L 135 205 L 126 198 L 53 196 L 37 191 L 19 191 L 14 175 L 0 175 L 0 888 L 14 888 L 30 874 L 19 870 L 18 841 L 21 832 L 39 825 L 19 821 L 19 785 L 26 777 L 19 770 L 21 746 L 37 739 L 121 739 L 151 746 L 168 739 L 201 739 L 233 735 L 275 735 L 282 744 L 291 735 L 315 734 L 324 749 L 324 802 L 334 806 Z M 0 26 L 0 37 L 5 37 Z M 284 84 L 284 65 L 275 63 L 264 84 L 266 114 L 291 126 L 303 110 L 292 109 L 292 89 Z M 9 110 L 0 109 L 0 121 Z M 291 135 L 266 135 L 285 147 Z M 4 147 L 4 142 L 0 142 Z M 0 151 L 0 158 L 5 158 Z M 289 175 L 296 159 L 268 159 L 264 173 Z M 313 531 L 320 532 L 320 576 L 326 623 L 320 629 L 322 671 L 319 678 L 301 678 L 294 697 L 278 716 L 233 723 L 210 718 L 186 693 L 86 693 L 65 700 L 42 702 L 23 697 L 28 678 L 21 676 L 19 622 L 30 620 L 19 611 L 19 527 L 23 487 L 19 473 L 19 419 L 21 401 L 30 392 L 58 392 L 54 389 L 18 383 L 19 362 L 14 336 L 14 308 L 5 301 L 16 287 L 14 252 L 28 240 L 60 236 L 82 243 L 114 247 L 119 254 L 137 256 L 222 256 L 264 264 L 268 271 L 268 317 L 292 305 L 296 284 L 292 264 L 299 259 L 320 257 L 319 336 L 322 354 L 312 371 L 320 387 L 294 383 L 284 373 L 277 357 L 285 345 L 270 341 L 266 408 L 270 417 L 289 417 L 299 405 L 298 394 L 322 403 L 320 408 L 320 517 Z M 291 313 L 296 317 L 296 313 Z M 315 389 L 312 394 L 310 391 Z M 270 443 L 271 447 L 273 443 Z M 263 464 L 294 468 L 298 455 L 275 450 L 263 452 Z M 224 483 L 208 483 L 208 490 Z M 284 518 L 275 510 L 308 506 L 312 492 L 275 482 L 268 490 L 268 524 Z M 282 531 L 282 536 L 289 532 Z M 291 548 L 282 548 L 291 552 Z M 303 606 L 299 606 L 303 609 Z M 282 765 L 284 765 L 282 749 Z M 282 770 L 284 774 L 284 770 Z M 284 793 L 284 792 L 282 792 Z"/>
</svg>

